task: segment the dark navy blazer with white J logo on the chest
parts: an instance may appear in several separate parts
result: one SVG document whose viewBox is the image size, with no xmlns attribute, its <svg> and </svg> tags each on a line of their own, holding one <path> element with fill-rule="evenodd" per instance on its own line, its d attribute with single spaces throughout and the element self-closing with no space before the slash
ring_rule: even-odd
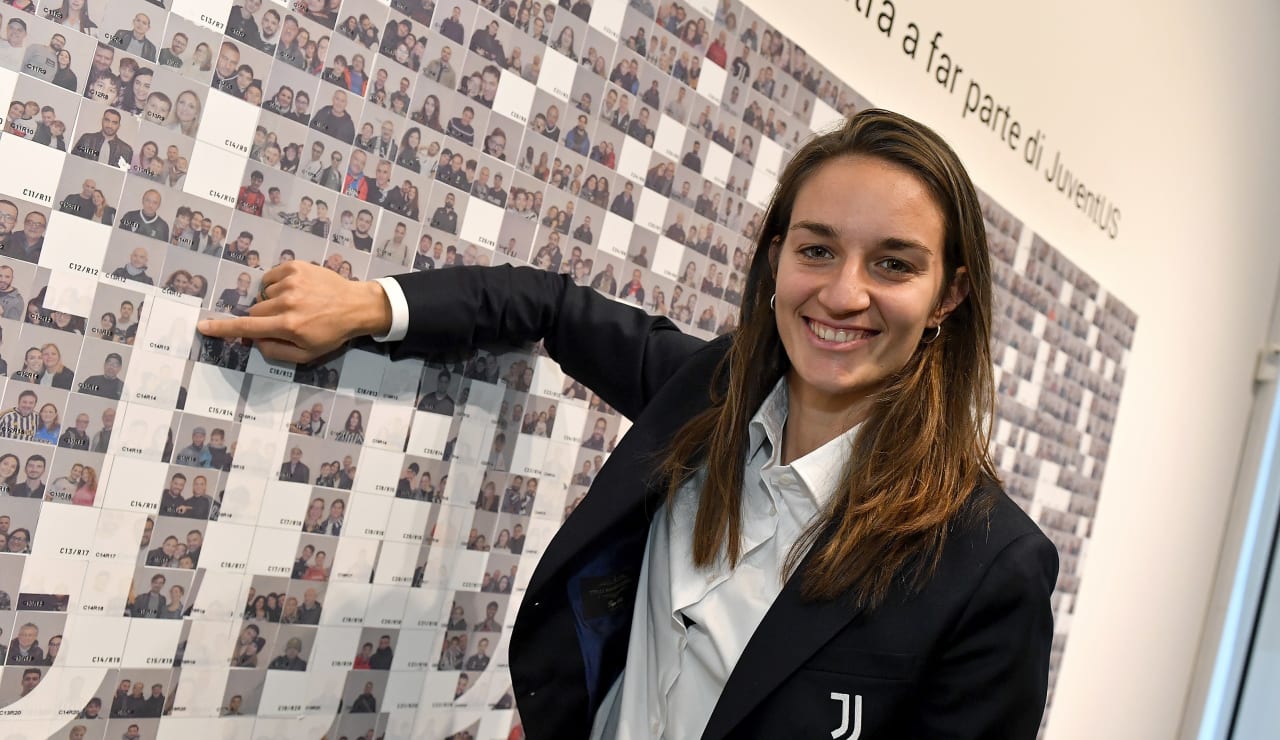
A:
<svg viewBox="0 0 1280 740">
<path fill-rule="evenodd" d="M 704 342 L 532 268 L 396 279 L 412 316 L 396 352 L 541 339 L 564 373 L 634 422 L 545 548 L 509 643 L 526 735 L 586 737 L 626 664 L 649 522 L 666 493 L 658 461 L 672 434 L 709 405 L 728 337 Z M 1036 737 L 1057 551 L 995 481 L 972 499 L 988 501 L 989 512 L 957 517 L 919 593 L 893 588 L 868 613 L 849 599 L 806 602 L 800 579 L 790 579 L 703 737 Z M 689 735 L 671 727 L 668 736 Z"/>
</svg>

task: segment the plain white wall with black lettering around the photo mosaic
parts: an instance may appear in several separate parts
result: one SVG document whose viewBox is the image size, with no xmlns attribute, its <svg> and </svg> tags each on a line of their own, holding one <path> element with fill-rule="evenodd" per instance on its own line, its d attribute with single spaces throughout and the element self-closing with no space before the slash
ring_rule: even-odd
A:
<svg viewBox="0 0 1280 740">
<path fill-rule="evenodd" d="M 881 0 L 873 3 L 873 18 Z M 748 0 L 860 93 L 936 127 L 974 181 L 1138 314 L 1050 740 L 1178 734 L 1271 314 L 1280 6 Z M 908 59 L 914 20 L 1123 209 L 1108 239 Z M 927 54 L 927 49 L 922 49 Z M 1047 156 L 1047 155 L 1046 155 Z"/>
</svg>

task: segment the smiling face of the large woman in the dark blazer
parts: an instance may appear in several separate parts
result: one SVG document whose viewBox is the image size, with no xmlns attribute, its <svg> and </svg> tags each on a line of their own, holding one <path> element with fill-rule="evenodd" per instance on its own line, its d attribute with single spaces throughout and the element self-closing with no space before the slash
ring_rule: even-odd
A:
<svg viewBox="0 0 1280 740">
<path fill-rule="evenodd" d="M 792 398 L 847 408 L 906 365 L 966 292 L 957 271 L 942 296 L 945 224 L 928 187 L 884 160 L 841 157 L 809 177 L 772 252 Z"/>
</svg>

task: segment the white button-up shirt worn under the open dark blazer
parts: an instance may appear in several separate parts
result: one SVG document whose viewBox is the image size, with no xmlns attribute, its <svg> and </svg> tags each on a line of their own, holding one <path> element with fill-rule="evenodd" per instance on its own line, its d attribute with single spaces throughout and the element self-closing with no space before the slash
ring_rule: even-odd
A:
<svg viewBox="0 0 1280 740">
<path fill-rule="evenodd" d="M 604 698 L 593 740 L 698 737 L 751 634 L 782 591 L 791 547 L 835 494 L 856 426 L 781 463 L 786 379 L 751 419 L 742 492 L 742 557 L 692 565 L 701 474 L 649 527 L 626 668 Z M 686 626 L 685 618 L 690 621 Z"/>
</svg>

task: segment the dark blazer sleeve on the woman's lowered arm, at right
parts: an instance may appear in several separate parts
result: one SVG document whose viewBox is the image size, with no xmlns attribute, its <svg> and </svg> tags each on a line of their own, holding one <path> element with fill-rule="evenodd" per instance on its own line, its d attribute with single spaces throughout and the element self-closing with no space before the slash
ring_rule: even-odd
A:
<svg viewBox="0 0 1280 740">
<path fill-rule="evenodd" d="M 1038 530 L 996 556 L 920 688 L 913 737 L 1036 739 L 1048 690 L 1056 581 L 1057 549 Z"/>
</svg>

